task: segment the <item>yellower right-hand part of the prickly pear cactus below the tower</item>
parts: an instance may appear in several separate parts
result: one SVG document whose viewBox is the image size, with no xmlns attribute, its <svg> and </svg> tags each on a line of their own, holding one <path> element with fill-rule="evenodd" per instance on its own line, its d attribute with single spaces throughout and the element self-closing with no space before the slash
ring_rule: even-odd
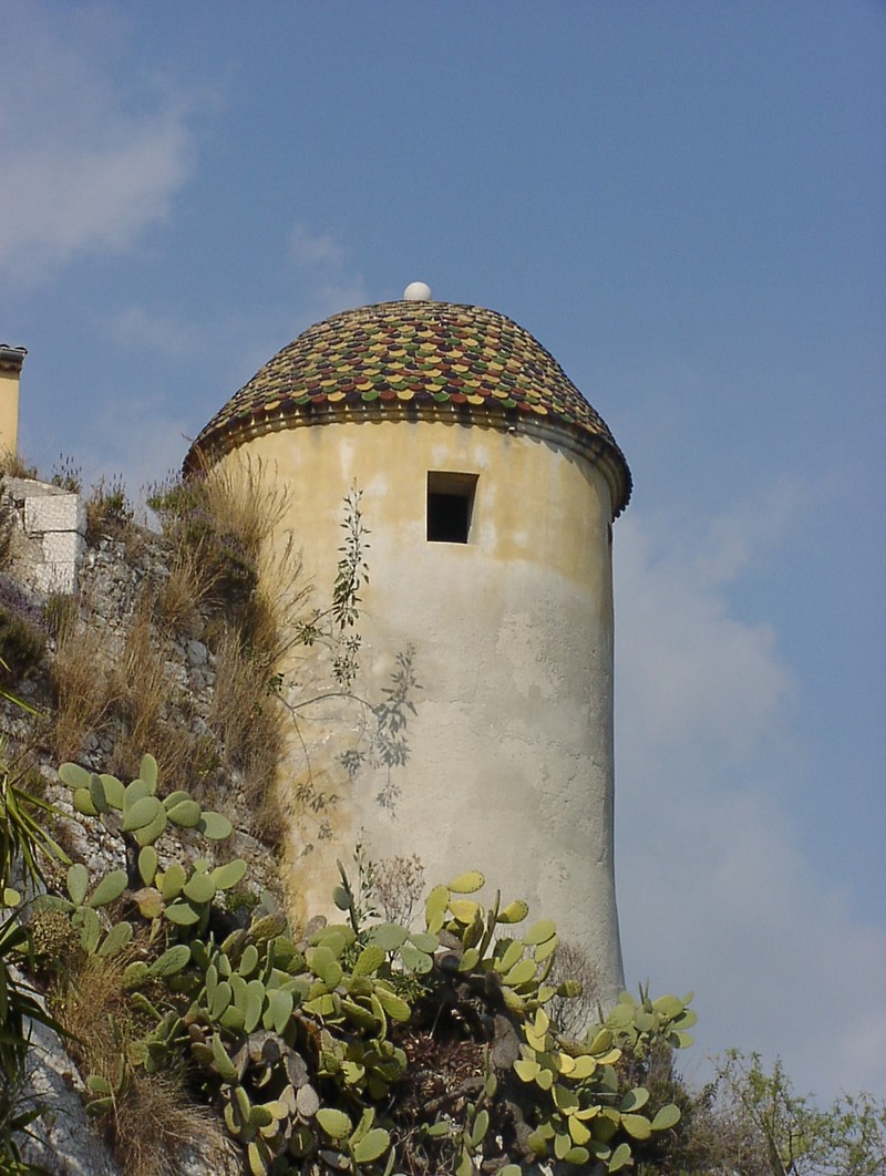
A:
<svg viewBox="0 0 886 1176">
<path fill-rule="evenodd" d="M 638 1004 L 622 994 L 609 1016 L 591 1025 L 582 1041 L 564 1036 L 545 1005 L 554 996 L 579 991 L 573 981 L 548 982 L 558 943 L 554 923 L 541 920 L 521 937 L 508 934 L 512 924 L 526 918 L 526 904 L 517 901 L 502 908 L 497 895 L 485 910 L 464 897 L 484 881 L 479 873 L 469 873 L 448 887 L 437 887 L 425 913 L 428 930 L 435 930 L 444 949 L 453 953 L 449 973 L 454 969 L 461 1000 L 482 991 L 487 1008 L 505 1010 L 492 1022 L 487 1050 L 492 1068 L 480 1097 L 466 1105 L 458 1176 L 478 1170 L 484 1138 L 497 1125 L 485 1104 L 494 1110 L 495 1097 L 502 1095 L 513 1129 L 512 1151 L 525 1162 L 553 1157 L 575 1168 L 595 1163 L 600 1170 L 619 1171 L 632 1163 L 632 1140 L 670 1130 L 680 1118 L 673 1104 L 658 1108 L 652 1118 L 640 1114 L 649 1094 L 642 1087 L 622 1089 L 624 1049 L 641 1051 L 654 1041 L 678 1048 L 690 1044 L 685 1030 L 694 1013 L 687 1008 L 688 998 L 651 1002 L 641 993 Z M 440 963 L 445 965 L 446 955 Z"/>
</svg>

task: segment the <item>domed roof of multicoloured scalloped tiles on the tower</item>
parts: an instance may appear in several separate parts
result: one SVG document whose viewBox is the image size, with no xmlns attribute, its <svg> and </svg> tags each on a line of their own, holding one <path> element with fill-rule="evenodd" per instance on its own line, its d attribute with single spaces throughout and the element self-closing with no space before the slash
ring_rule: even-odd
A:
<svg viewBox="0 0 886 1176">
<path fill-rule="evenodd" d="M 631 496 L 624 454 L 553 355 L 505 315 L 451 302 L 380 302 L 309 327 L 213 416 L 185 468 L 262 433 L 365 417 L 565 432 L 602 467 L 617 515 Z"/>
</svg>

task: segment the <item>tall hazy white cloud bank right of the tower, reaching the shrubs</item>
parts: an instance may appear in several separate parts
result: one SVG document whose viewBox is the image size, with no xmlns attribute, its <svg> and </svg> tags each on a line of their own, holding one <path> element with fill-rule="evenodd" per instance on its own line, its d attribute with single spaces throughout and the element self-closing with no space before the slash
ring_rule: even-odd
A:
<svg viewBox="0 0 886 1176">
<path fill-rule="evenodd" d="M 697 521 L 694 540 L 664 517 L 617 524 L 628 981 L 695 989 L 697 1054 L 779 1054 L 798 1087 L 825 1097 L 882 1089 L 886 928 L 864 923 L 827 861 L 804 855 L 791 811 L 804 803 L 798 683 L 772 626 L 730 606 L 792 517 L 757 506 Z"/>
</svg>

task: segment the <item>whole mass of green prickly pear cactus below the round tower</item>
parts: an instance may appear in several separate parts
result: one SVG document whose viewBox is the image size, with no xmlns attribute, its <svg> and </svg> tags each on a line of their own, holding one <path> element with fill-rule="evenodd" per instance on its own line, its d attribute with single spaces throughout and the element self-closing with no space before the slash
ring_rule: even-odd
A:
<svg viewBox="0 0 886 1176">
<path fill-rule="evenodd" d="M 161 861 L 169 824 L 216 840 L 231 826 L 187 793 L 161 796 L 151 756 L 128 784 L 74 764 L 60 775 L 78 811 L 127 847 L 128 869 L 93 882 L 74 864 L 42 900 L 89 956 L 122 953 L 139 1013 L 118 1071 L 87 1080 L 94 1114 L 113 1112 L 135 1069 L 184 1062 L 254 1176 L 518 1176 L 546 1158 L 618 1171 L 632 1141 L 677 1123 L 675 1107 L 649 1110 L 648 1093 L 626 1087 L 620 1060 L 655 1041 L 686 1044 L 687 1001 L 626 996 L 582 1041 L 565 1037 L 546 1005 L 578 989 L 551 980 L 553 922 L 518 934 L 526 903 L 497 895 L 485 908 L 478 871 L 431 891 L 420 931 L 362 909 L 344 869 L 341 923 L 294 933 L 268 895 L 238 920 L 224 900 L 245 884 L 242 860 Z M 440 1094 L 405 1109 L 417 1043 L 438 1050 Z"/>
</svg>

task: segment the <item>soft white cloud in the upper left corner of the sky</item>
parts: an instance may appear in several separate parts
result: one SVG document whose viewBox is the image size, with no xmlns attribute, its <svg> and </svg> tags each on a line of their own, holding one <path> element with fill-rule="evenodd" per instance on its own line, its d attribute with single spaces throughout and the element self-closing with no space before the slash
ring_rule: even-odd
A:
<svg viewBox="0 0 886 1176">
<path fill-rule="evenodd" d="M 32 282 L 84 252 L 127 249 L 165 218 L 191 139 L 174 100 L 124 107 L 91 38 L 62 44 L 36 6 L 18 7 L 16 27 L 0 72 L 0 273 Z"/>
</svg>

